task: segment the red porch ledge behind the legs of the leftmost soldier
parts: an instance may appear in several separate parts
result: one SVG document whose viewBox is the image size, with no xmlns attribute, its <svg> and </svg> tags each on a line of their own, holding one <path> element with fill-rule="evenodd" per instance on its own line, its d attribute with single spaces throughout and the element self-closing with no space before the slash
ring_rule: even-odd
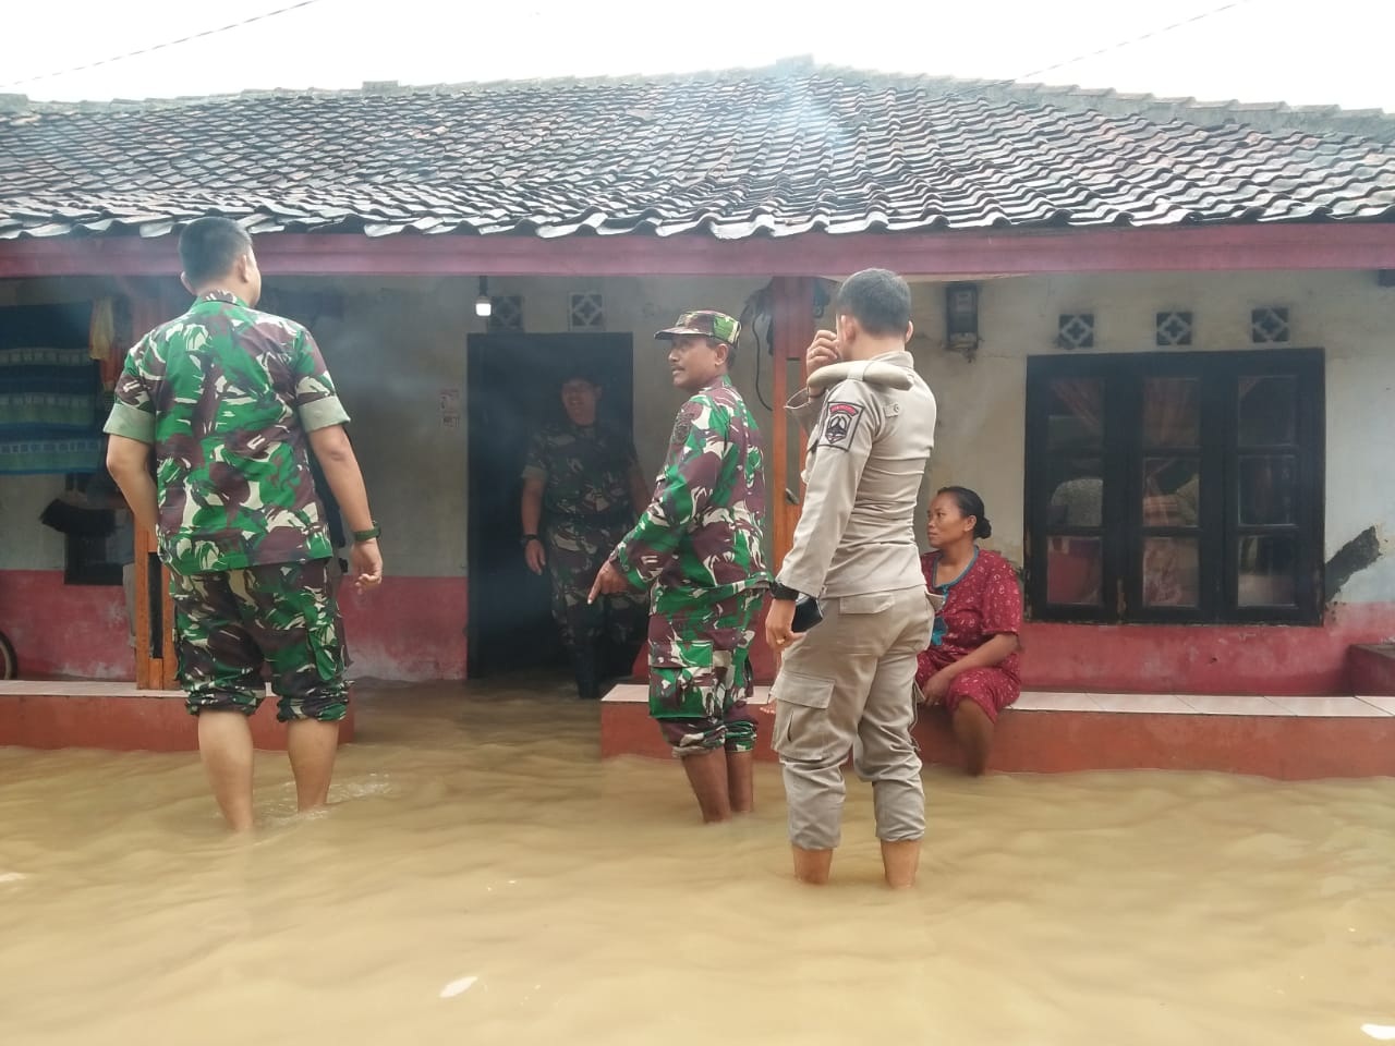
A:
<svg viewBox="0 0 1395 1046">
<path fill-rule="evenodd" d="M 251 718 L 252 743 L 286 750 L 269 696 Z M 339 743 L 354 736 L 354 706 L 339 724 Z M 109 752 L 197 752 L 198 727 L 179 690 L 141 690 L 134 682 L 67 679 L 0 681 L 0 745 Z"/>
</svg>

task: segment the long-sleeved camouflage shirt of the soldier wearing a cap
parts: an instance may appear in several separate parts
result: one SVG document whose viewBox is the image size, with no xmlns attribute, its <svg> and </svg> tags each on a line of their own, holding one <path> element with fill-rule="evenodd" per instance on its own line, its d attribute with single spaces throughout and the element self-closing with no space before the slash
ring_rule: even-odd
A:
<svg viewBox="0 0 1395 1046">
<path fill-rule="evenodd" d="M 611 562 L 638 589 L 704 601 L 764 587 L 764 512 L 760 432 L 723 377 L 678 411 L 653 501 Z"/>
</svg>

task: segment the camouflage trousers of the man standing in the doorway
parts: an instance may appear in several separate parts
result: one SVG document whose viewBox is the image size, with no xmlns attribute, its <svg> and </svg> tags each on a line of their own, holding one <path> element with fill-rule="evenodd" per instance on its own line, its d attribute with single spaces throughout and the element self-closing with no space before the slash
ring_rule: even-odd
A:
<svg viewBox="0 0 1395 1046">
<path fill-rule="evenodd" d="M 644 593 L 603 596 L 589 604 L 596 573 L 625 537 L 624 524 L 587 527 L 552 523 L 547 527 L 547 566 L 552 577 L 552 619 L 569 653 L 598 640 L 638 653 L 649 605 Z"/>
</svg>

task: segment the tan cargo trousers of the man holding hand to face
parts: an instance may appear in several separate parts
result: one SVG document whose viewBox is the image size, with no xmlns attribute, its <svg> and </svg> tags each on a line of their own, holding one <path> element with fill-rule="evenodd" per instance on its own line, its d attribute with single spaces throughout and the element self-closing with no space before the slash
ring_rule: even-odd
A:
<svg viewBox="0 0 1395 1046">
<path fill-rule="evenodd" d="M 923 586 L 822 600 L 823 621 L 784 655 L 771 688 L 790 841 L 833 849 L 843 834 L 843 761 L 872 782 L 884 842 L 925 835 L 921 757 L 911 741 L 915 658 L 935 614 Z"/>
</svg>

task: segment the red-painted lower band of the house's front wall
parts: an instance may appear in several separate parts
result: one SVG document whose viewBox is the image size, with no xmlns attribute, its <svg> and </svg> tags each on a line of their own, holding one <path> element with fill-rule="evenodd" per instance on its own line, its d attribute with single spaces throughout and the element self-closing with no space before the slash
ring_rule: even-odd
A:
<svg viewBox="0 0 1395 1046">
<path fill-rule="evenodd" d="M 465 577 L 386 577 L 342 598 L 352 675 L 463 679 Z M 0 572 L 0 630 L 25 678 L 130 679 L 120 589 L 64 586 L 59 570 Z M 1023 682 L 1032 690 L 1095 693 L 1353 693 L 1348 650 L 1395 636 L 1395 602 L 1341 604 L 1321 626 L 1099 626 L 1028 622 Z M 757 622 L 760 682 L 774 658 Z M 646 678 L 642 655 L 636 676 Z"/>
</svg>

